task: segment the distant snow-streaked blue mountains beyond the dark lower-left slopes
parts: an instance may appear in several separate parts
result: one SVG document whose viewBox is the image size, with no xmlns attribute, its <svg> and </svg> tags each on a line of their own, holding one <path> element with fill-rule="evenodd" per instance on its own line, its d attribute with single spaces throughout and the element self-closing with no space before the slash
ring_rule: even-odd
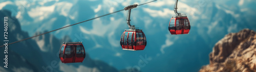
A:
<svg viewBox="0 0 256 72">
<path fill-rule="evenodd" d="M 149 1 L 5 0 L 1 1 L 0 9 L 12 11 L 13 16 L 20 21 L 22 30 L 33 36 L 35 32 L 51 31 L 121 10 L 129 5 L 146 2 Z M 124 29 L 128 29 L 125 21 L 127 11 L 84 22 L 51 34 L 59 39 L 68 35 L 73 41 L 83 41 L 86 52 L 90 54 L 91 58 L 102 60 L 117 69 L 134 67 L 141 61 L 140 56 L 147 56 L 151 60 L 146 63 L 146 66 L 140 67 L 141 71 L 150 71 L 158 64 L 159 67 L 156 68 L 156 71 L 179 71 L 182 67 L 191 67 L 185 69 L 197 71 L 202 65 L 208 64 L 208 54 L 214 44 L 225 34 L 238 32 L 244 28 L 256 30 L 255 20 L 252 19 L 256 15 L 255 8 L 253 8 L 255 1 L 180 0 L 178 12 L 187 14 L 191 31 L 187 35 L 170 35 L 167 27 L 170 18 L 175 15 L 174 3 L 174 0 L 159 0 L 132 10 L 131 24 L 139 27 L 146 34 L 148 44 L 143 51 L 121 50 L 120 36 Z M 41 43 L 44 41 L 37 41 L 42 52 L 50 51 L 42 47 Z M 200 45 L 200 43 L 204 45 Z M 202 53 L 197 54 L 197 51 Z M 186 52 L 192 54 L 186 55 Z M 189 64 L 191 62 L 195 62 L 194 64 L 197 65 L 188 66 L 194 65 Z M 62 66 L 62 68 L 67 67 L 65 64 Z"/>
</svg>

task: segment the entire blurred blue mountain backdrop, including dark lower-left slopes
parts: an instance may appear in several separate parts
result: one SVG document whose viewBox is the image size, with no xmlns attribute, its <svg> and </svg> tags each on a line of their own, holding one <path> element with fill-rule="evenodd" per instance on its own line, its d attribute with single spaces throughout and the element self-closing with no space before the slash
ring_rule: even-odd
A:
<svg viewBox="0 0 256 72">
<path fill-rule="evenodd" d="M 148 1 L 0 2 L 0 20 L 9 16 L 8 38 L 14 42 Z M 131 24 L 146 34 L 147 46 L 143 51 L 121 49 L 121 34 L 128 29 L 127 12 L 122 11 L 9 45 L 10 68 L 1 64 L 0 70 L 45 71 L 42 67 L 50 67 L 56 61 L 57 67 L 51 66 L 53 71 L 198 71 L 209 64 L 212 47 L 226 34 L 245 28 L 256 31 L 255 1 L 181 0 L 178 12 L 188 15 L 191 30 L 187 35 L 170 35 L 168 23 L 175 15 L 174 3 L 160 0 L 132 10 Z M 64 41 L 83 42 L 87 53 L 83 63 L 60 62 L 57 54 Z M 4 58 L 3 53 L 1 57 Z"/>
</svg>

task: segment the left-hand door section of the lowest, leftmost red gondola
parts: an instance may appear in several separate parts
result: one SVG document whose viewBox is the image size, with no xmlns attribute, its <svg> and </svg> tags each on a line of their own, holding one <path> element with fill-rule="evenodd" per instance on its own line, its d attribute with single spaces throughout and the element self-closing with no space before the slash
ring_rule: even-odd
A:
<svg viewBox="0 0 256 72">
<path fill-rule="evenodd" d="M 64 50 L 64 60 L 65 63 L 71 63 L 74 61 L 74 50 L 75 50 L 75 45 L 66 45 L 66 49 Z"/>
</svg>

